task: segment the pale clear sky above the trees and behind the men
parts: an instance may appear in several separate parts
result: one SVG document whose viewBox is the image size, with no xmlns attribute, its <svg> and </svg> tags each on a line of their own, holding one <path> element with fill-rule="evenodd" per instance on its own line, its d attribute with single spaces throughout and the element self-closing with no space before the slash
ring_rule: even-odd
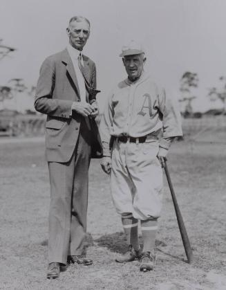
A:
<svg viewBox="0 0 226 290">
<path fill-rule="evenodd" d="M 0 60 L 0 85 L 12 78 L 36 85 L 44 59 L 68 44 L 68 20 L 82 15 L 91 21 L 84 54 L 97 66 L 101 110 L 126 78 L 119 55 L 131 39 L 144 46 L 145 71 L 168 95 L 180 98 L 180 78 L 191 71 L 199 78 L 194 111 L 222 106 L 207 93 L 226 76 L 225 0 L 0 0 L 0 12 L 0 39 L 17 49 Z M 32 106 L 30 96 L 19 98 L 21 107 Z"/>
</svg>

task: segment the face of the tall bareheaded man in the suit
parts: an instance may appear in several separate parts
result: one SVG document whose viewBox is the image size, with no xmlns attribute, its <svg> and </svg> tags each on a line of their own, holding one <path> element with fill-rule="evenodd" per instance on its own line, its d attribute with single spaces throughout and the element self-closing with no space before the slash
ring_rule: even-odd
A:
<svg viewBox="0 0 226 290">
<path fill-rule="evenodd" d="M 70 45 L 82 51 L 89 37 L 89 25 L 86 21 L 73 21 L 67 28 Z"/>
</svg>

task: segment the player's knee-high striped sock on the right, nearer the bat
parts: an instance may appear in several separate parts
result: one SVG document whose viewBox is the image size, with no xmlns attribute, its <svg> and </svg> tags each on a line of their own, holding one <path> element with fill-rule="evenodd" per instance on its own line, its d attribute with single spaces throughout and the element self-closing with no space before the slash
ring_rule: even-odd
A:
<svg viewBox="0 0 226 290">
<path fill-rule="evenodd" d="M 143 252 L 153 252 L 155 249 L 156 233 L 158 230 L 157 219 L 141 221 L 141 230 L 144 240 Z"/>
</svg>

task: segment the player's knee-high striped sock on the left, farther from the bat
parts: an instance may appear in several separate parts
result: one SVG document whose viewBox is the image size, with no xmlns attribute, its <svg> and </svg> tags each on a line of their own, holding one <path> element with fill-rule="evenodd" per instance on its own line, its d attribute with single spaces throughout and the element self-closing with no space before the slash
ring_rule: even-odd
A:
<svg viewBox="0 0 226 290">
<path fill-rule="evenodd" d="M 135 250 L 138 250 L 140 248 L 138 241 L 138 219 L 135 219 L 132 214 L 122 215 L 122 226 L 127 244 L 131 244 Z"/>
</svg>

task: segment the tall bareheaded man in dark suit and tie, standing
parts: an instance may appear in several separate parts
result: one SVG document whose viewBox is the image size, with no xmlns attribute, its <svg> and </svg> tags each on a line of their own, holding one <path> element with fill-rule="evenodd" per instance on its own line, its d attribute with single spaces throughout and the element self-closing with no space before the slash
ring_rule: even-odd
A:
<svg viewBox="0 0 226 290">
<path fill-rule="evenodd" d="M 95 123 L 95 63 L 82 54 L 90 34 L 84 17 L 72 17 L 69 44 L 41 65 L 35 109 L 47 115 L 46 159 L 50 176 L 47 278 L 59 277 L 67 263 L 90 265 L 86 258 L 88 167 L 102 155 Z"/>
</svg>

